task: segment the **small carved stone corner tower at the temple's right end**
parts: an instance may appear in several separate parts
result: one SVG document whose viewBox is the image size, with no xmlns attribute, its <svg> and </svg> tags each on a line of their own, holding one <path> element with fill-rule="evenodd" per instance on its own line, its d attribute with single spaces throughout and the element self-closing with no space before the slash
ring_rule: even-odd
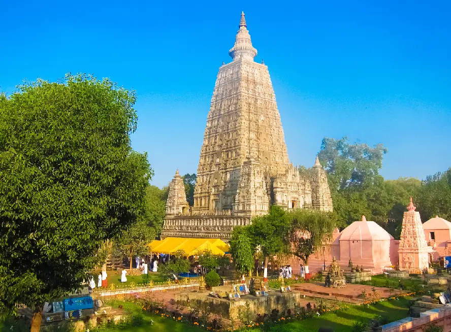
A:
<svg viewBox="0 0 451 332">
<path fill-rule="evenodd" d="M 332 196 L 327 182 L 327 174 L 319 163 L 318 156 L 316 156 L 313 172 L 309 178 L 312 186 L 313 208 L 323 211 L 332 211 Z"/>
</svg>

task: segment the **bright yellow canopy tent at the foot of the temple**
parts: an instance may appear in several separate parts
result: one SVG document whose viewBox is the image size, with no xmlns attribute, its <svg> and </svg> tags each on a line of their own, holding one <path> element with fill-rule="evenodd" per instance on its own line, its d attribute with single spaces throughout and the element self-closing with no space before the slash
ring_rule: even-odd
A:
<svg viewBox="0 0 451 332">
<path fill-rule="evenodd" d="M 150 251 L 164 254 L 173 254 L 177 250 L 183 250 L 187 256 L 192 256 L 210 250 L 214 255 L 224 255 L 230 249 L 229 245 L 220 239 L 166 238 L 156 241 L 158 240 L 149 244 Z"/>
</svg>

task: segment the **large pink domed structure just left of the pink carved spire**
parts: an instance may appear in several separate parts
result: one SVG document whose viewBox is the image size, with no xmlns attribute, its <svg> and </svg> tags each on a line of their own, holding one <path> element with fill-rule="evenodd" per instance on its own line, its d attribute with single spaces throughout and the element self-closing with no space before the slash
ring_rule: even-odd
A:
<svg viewBox="0 0 451 332">
<path fill-rule="evenodd" d="M 338 240 L 342 261 L 351 259 L 354 264 L 365 268 L 383 270 L 397 259 L 391 257 L 395 256 L 394 253 L 390 254 L 394 238 L 374 221 L 366 221 L 365 216 L 362 216 L 362 221 L 355 221 L 347 226 Z"/>
</svg>

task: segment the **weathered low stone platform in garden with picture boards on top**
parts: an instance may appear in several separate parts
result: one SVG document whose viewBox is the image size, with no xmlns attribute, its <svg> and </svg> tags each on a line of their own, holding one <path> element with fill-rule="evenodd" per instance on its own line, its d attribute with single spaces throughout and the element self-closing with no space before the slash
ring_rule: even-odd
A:
<svg viewBox="0 0 451 332">
<path fill-rule="evenodd" d="M 230 291 L 230 286 L 214 287 L 216 292 Z M 267 314 L 273 309 L 280 312 L 291 309 L 294 311 L 295 307 L 305 306 L 301 293 L 292 291 L 281 293 L 280 290 L 270 290 L 268 296 L 254 296 L 252 294 L 242 295 L 239 300 L 230 301 L 228 298 L 211 297 L 208 291 L 205 293 L 192 291 L 179 291 L 174 293 L 174 302 L 176 305 L 196 308 L 199 311 L 210 311 L 214 314 L 222 315 L 225 319 L 236 319 L 238 312 L 246 310 L 246 304 L 249 304 L 250 316 L 252 319 L 257 314 Z"/>
</svg>

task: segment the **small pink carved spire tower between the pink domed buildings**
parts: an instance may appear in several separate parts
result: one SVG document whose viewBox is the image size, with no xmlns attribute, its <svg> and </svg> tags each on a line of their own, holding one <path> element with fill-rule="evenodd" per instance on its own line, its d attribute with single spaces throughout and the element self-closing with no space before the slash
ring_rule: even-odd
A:
<svg viewBox="0 0 451 332">
<path fill-rule="evenodd" d="M 429 268 L 429 252 L 432 248 L 426 242 L 420 213 L 415 211 L 412 197 L 402 219 L 401 240 L 399 241 L 399 266 L 401 269 Z"/>
</svg>

